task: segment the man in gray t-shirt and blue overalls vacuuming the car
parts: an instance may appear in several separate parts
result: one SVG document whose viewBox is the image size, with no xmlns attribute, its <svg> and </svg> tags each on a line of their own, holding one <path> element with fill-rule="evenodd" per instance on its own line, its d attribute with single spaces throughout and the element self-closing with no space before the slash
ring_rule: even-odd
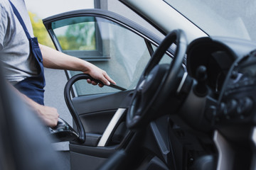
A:
<svg viewBox="0 0 256 170">
<path fill-rule="evenodd" d="M 38 45 L 33 38 L 31 21 L 23 0 L 0 0 L 0 10 L 0 58 L 4 63 L 4 75 L 46 125 L 57 125 L 59 115 L 55 108 L 43 105 L 43 67 L 81 71 L 106 85 L 110 85 L 110 82 L 115 84 L 105 71 L 95 65 Z M 97 85 L 95 81 L 87 82 Z M 102 87 L 104 84 L 98 85 Z"/>
</svg>

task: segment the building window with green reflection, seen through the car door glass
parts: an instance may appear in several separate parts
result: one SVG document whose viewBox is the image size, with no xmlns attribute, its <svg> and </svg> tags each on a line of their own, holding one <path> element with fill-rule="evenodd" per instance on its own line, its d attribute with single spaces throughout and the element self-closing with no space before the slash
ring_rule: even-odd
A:
<svg viewBox="0 0 256 170">
<path fill-rule="evenodd" d="M 66 18 L 52 23 L 60 50 L 86 60 L 106 60 L 95 17 Z"/>
</svg>

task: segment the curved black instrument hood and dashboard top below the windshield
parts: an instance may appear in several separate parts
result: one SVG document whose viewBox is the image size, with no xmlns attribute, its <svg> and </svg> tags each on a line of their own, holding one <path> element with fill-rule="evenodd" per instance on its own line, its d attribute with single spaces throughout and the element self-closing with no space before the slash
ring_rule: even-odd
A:
<svg viewBox="0 0 256 170">
<path fill-rule="evenodd" d="M 206 84 L 218 99 L 223 84 L 236 60 L 255 50 L 256 44 L 234 38 L 198 38 L 188 45 L 188 74 L 197 79 L 197 69 L 206 67 Z"/>
</svg>

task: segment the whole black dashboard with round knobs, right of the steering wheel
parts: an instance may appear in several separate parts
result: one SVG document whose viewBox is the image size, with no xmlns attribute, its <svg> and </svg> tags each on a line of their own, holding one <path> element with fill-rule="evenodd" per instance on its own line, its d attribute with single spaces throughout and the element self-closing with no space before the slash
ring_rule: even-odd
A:
<svg viewBox="0 0 256 170">
<path fill-rule="evenodd" d="M 186 64 L 188 75 L 197 81 L 198 68 L 206 67 L 204 83 L 210 93 L 205 97 L 205 103 L 198 107 L 202 115 L 208 117 L 208 123 L 214 123 L 215 128 L 222 129 L 225 135 L 233 134 L 238 125 L 256 125 L 256 42 L 198 38 L 188 45 Z M 194 100 L 195 97 L 189 102 Z M 233 128 L 224 132 L 227 127 Z"/>
</svg>

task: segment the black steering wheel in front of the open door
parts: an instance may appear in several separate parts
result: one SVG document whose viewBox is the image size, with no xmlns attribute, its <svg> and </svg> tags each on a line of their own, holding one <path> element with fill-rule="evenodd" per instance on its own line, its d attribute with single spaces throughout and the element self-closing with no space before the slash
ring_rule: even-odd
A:
<svg viewBox="0 0 256 170">
<path fill-rule="evenodd" d="M 171 64 L 159 64 L 166 50 L 173 43 L 176 44 L 174 60 Z M 127 111 L 127 128 L 142 128 L 154 118 L 159 117 L 158 112 L 163 108 L 164 102 L 171 92 L 177 90 L 178 73 L 181 71 L 186 47 L 187 40 L 183 30 L 172 31 L 157 47 L 134 90 L 132 103 Z"/>
</svg>

